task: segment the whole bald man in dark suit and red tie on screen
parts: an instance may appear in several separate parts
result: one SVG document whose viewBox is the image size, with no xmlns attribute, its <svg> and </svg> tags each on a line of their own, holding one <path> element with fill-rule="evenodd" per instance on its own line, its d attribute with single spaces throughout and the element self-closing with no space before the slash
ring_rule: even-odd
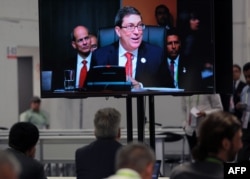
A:
<svg viewBox="0 0 250 179">
<path fill-rule="evenodd" d="M 68 90 L 72 90 L 73 88 L 83 88 L 86 82 L 86 76 L 85 78 L 80 79 L 81 74 L 83 74 L 81 73 L 81 71 L 84 71 L 82 69 L 85 69 L 85 71 L 88 72 L 91 66 L 92 52 L 88 28 L 82 25 L 78 25 L 72 30 L 70 37 L 71 46 L 73 47 L 76 53 L 72 55 L 72 57 L 63 60 L 59 64 L 56 64 L 54 70 L 55 73 L 53 73 L 54 89 L 61 89 L 65 87 L 65 76 L 70 76 L 70 79 L 73 78 L 74 80 L 74 84 L 70 84 L 72 88 Z M 67 71 L 69 70 L 70 72 L 68 72 L 68 74 L 66 75 Z"/>
</svg>

